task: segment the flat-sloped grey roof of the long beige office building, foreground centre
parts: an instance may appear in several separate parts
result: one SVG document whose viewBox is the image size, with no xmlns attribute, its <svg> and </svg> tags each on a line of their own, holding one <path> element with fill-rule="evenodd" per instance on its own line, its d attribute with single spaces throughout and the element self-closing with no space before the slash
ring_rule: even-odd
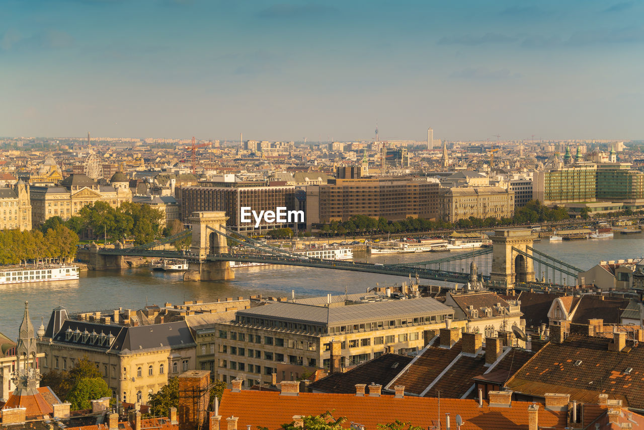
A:
<svg viewBox="0 0 644 430">
<path fill-rule="evenodd" d="M 437 315 L 451 313 L 450 306 L 431 297 L 410 300 L 363 303 L 336 308 L 313 306 L 291 302 L 278 302 L 258 308 L 237 311 L 240 317 L 269 317 L 280 320 L 307 322 L 312 324 L 341 324 L 353 321 L 377 321 L 411 315 Z"/>
</svg>

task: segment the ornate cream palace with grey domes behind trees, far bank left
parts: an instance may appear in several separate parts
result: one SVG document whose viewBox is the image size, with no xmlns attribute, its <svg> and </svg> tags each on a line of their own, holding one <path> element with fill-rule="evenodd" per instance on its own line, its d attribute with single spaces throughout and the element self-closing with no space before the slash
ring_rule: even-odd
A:
<svg viewBox="0 0 644 430">
<path fill-rule="evenodd" d="M 52 217 L 68 220 L 84 206 L 102 201 L 113 208 L 122 202 L 131 202 L 132 193 L 125 182 L 99 185 L 86 175 L 74 174 L 66 177 L 59 186 L 32 186 L 32 222 L 43 224 Z"/>
</svg>

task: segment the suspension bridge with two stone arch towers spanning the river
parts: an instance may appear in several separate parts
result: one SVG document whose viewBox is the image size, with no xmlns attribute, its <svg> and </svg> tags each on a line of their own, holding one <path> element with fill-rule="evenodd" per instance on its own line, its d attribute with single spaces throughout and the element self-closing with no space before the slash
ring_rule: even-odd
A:
<svg viewBox="0 0 644 430">
<path fill-rule="evenodd" d="M 131 248 L 120 243 L 114 248 L 99 248 L 92 244 L 89 266 L 93 269 L 120 268 L 123 258 L 128 256 L 185 259 L 189 270 L 184 280 L 225 280 L 234 278 L 230 262 L 257 262 L 380 273 L 454 284 L 478 280 L 484 286 L 500 291 L 574 285 L 582 271 L 534 249 L 536 235 L 524 228 L 495 230 L 490 236 L 491 248 L 408 264 L 374 264 L 318 259 L 276 248 L 231 230 L 225 225 L 227 219 L 220 211 L 194 212 L 189 218 L 191 230 L 149 244 Z M 188 250 L 176 246 L 178 242 L 185 244 L 188 240 Z M 475 277 L 472 268 L 477 273 Z"/>
</svg>

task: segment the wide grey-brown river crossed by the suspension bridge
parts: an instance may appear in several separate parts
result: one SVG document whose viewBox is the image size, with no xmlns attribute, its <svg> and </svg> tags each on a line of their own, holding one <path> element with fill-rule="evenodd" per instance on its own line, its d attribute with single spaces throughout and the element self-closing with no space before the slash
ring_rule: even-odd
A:
<svg viewBox="0 0 644 430">
<path fill-rule="evenodd" d="M 535 243 L 535 248 L 564 260 L 573 266 L 588 269 L 600 260 L 642 257 L 644 235 L 619 235 L 614 239 L 580 240 L 573 242 Z M 448 253 L 380 255 L 370 262 L 384 264 L 439 259 Z M 365 260 L 364 253 L 356 260 Z M 140 309 L 147 304 L 173 304 L 184 300 L 216 300 L 226 297 L 248 297 L 263 294 L 274 297 L 296 297 L 359 293 L 379 284 L 403 282 L 405 278 L 343 270 L 298 268 L 294 266 L 260 266 L 235 269 L 235 279 L 225 282 L 183 282 L 180 273 L 152 272 L 147 268 L 122 271 L 89 271 L 81 279 L 64 282 L 12 284 L 0 286 L 0 333 L 17 337 L 23 317 L 24 300 L 29 300 L 30 316 L 35 328 L 44 324 L 51 311 L 60 303 L 73 311 L 94 311 L 118 307 Z M 424 281 L 428 282 L 428 281 Z M 433 284 L 439 282 L 431 281 Z"/>
</svg>

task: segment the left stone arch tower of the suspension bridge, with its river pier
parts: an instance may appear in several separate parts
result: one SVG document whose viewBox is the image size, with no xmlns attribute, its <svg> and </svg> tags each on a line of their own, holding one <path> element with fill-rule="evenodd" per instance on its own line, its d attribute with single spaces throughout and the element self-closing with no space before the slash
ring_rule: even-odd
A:
<svg viewBox="0 0 644 430">
<path fill-rule="evenodd" d="M 221 211 L 193 212 L 193 216 L 189 217 L 188 222 L 193 226 L 190 253 L 198 256 L 198 260 L 189 260 L 184 280 L 234 279 L 230 262 L 206 259 L 209 254 L 228 252 L 226 238 L 213 231 L 223 233 L 222 226 L 225 226 L 227 220 L 226 213 Z"/>
</svg>

